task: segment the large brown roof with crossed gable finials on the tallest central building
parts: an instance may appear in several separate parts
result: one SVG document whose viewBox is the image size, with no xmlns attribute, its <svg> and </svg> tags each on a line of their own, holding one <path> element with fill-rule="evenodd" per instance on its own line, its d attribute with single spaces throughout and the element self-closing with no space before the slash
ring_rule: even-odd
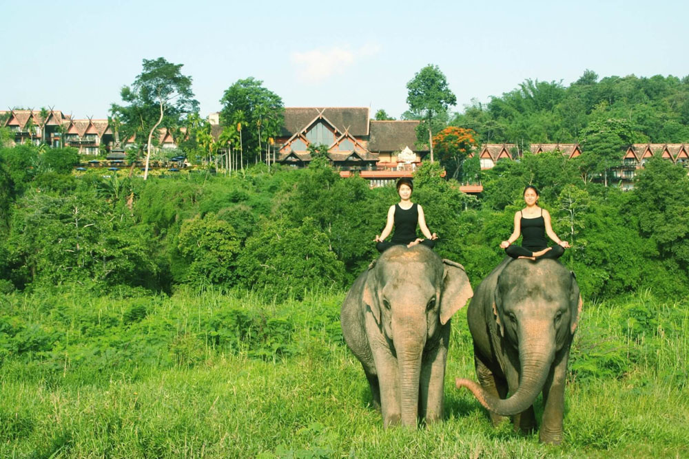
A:
<svg viewBox="0 0 689 459">
<path fill-rule="evenodd" d="M 368 107 L 287 107 L 280 136 L 291 137 L 304 131 L 318 118 L 326 118 L 340 133 L 369 135 Z"/>
</svg>

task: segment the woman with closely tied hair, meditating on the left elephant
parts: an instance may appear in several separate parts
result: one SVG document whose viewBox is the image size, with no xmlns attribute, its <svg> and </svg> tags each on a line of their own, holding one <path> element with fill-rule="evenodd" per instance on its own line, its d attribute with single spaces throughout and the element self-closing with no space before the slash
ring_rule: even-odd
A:
<svg viewBox="0 0 689 459">
<path fill-rule="evenodd" d="M 407 247 L 422 244 L 426 247 L 433 248 L 435 246 L 435 239 L 438 235 L 429 231 L 426 226 L 426 217 L 424 217 L 424 209 L 414 202 L 411 202 L 411 193 L 414 190 L 414 184 L 410 178 L 402 177 L 397 181 L 397 192 L 400 195 L 400 202 L 390 206 L 387 216 L 387 224 L 380 236 L 376 235 L 376 248 L 379 252 L 383 252 L 387 248 L 398 244 L 404 244 Z M 416 237 L 416 225 L 421 228 L 426 239 Z M 395 227 L 395 233 L 392 236 L 391 242 L 386 242 L 388 237 Z"/>
</svg>

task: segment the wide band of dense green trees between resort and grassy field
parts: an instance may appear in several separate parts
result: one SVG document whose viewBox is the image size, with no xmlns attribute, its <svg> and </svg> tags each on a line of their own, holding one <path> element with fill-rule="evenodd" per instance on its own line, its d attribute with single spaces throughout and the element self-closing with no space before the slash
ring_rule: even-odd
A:
<svg viewBox="0 0 689 459">
<path fill-rule="evenodd" d="M 258 164 L 227 177 L 192 171 L 146 181 L 77 176 L 54 158 L 63 155 L 0 150 L 3 290 L 216 285 L 302 297 L 345 288 L 376 256 L 373 237 L 397 199 L 392 187 L 341 179 L 325 158 L 302 170 Z M 478 198 L 440 171 L 424 163 L 414 199 L 440 235 L 438 253 L 464 264 L 474 282 L 503 256 L 498 245 L 533 183 L 556 233 L 574 246 L 563 261 L 584 295 L 688 291 L 689 178 L 679 165 L 654 158 L 623 192 L 585 183 L 576 160 L 559 153 L 527 154 L 484 171 Z"/>
</svg>

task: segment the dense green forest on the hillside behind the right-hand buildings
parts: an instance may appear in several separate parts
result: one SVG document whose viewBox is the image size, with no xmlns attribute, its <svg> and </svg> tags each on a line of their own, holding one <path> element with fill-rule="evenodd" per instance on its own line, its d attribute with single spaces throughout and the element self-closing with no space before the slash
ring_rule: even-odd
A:
<svg viewBox="0 0 689 459">
<path fill-rule="evenodd" d="M 586 70 L 562 82 L 527 80 L 487 104 L 465 107 L 451 125 L 476 131 L 482 142 L 584 142 L 601 122 L 628 143 L 689 141 L 689 76 L 606 76 Z"/>
</svg>

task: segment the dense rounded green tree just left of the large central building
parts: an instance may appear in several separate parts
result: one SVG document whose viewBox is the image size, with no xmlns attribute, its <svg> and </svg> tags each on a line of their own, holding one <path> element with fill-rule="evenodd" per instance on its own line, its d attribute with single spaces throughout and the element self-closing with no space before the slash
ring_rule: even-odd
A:
<svg viewBox="0 0 689 459">
<path fill-rule="evenodd" d="M 247 159 L 257 158 L 262 153 L 263 145 L 269 144 L 269 139 L 280 133 L 285 111 L 282 98 L 263 87 L 263 81 L 249 76 L 227 88 L 220 103 L 223 104 L 220 111 L 223 125 L 242 123 L 239 129 L 242 136 L 240 153 L 243 167 L 244 153 L 247 153 Z"/>
</svg>

